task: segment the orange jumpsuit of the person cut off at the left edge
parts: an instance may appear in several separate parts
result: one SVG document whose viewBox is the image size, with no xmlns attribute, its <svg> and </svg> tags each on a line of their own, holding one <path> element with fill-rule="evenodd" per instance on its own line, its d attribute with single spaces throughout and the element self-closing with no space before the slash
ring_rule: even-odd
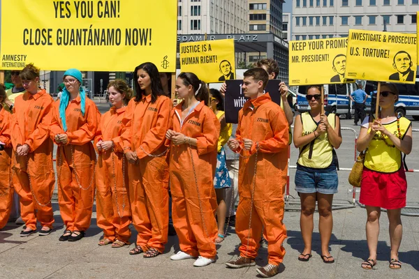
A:
<svg viewBox="0 0 419 279">
<path fill-rule="evenodd" d="M 13 205 L 11 121 L 12 114 L 0 107 L 0 142 L 4 144 L 0 151 L 0 229 L 7 224 Z"/>
</svg>

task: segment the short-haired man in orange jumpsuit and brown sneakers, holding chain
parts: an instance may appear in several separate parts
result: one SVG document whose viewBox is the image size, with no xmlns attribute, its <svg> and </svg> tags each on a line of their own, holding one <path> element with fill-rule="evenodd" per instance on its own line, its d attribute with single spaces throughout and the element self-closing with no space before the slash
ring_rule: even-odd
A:
<svg viewBox="0 0 419 279">
<path fill-rule="evenodd" d="M 242 89 L 250 100 L 239 112 L 235 140 L 228 141 L 230 149 L 241 155 L 236 233 L 242 244 L 240 257 L 226 265 L 254 266 L 263 230 L 268 264 L 256 270 L 263 277 L 279 273 L 285 255 L 282 243 L 286 227 L 282 220 L 288 160 L 288 121 L 269 93 L 263 93 L 268 79 L 263 68 L 244 73 Z"/>
</svg>

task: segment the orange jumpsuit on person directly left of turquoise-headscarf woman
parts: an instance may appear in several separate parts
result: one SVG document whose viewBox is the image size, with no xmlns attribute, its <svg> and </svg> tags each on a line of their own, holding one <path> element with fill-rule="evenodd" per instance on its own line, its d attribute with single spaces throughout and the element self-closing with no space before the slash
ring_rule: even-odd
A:
<svg viewBox="0 0 419 279">
<path fill-rule="evenodd" d="M 20 196 L 22 220 L 36 229 L 36 220 L 44 227 L 52 228 L 54 215 L 51 197 L 55 186 L 52 165 L 54 144 L 50 140 L 49 126 L 54 100 L 45 90 L 32 95 L 25 92 L 15 99 L 13 108 L 13 150 L 28 144 L 27 156 L 13 152 L 13 186 Z"/>
</svg>

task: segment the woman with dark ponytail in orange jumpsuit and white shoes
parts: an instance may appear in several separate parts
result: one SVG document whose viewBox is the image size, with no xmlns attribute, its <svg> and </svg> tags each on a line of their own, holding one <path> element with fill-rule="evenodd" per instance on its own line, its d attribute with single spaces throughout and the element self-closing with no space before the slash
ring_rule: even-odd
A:
<svg viewBox="0 0 419 279">
<path fill-rule="evenodd" d="M 170 191 L 172 218 L 180 251 L 170 259 L 198 257 L 193 266 L 206 266 L 216 256 L 218 227 L 214 190 L 220 122 L 207 107 L 209 92 L 193 73 L 181 73 L 176 91 L 183 98 L 170 114 Z"/>
</svg>

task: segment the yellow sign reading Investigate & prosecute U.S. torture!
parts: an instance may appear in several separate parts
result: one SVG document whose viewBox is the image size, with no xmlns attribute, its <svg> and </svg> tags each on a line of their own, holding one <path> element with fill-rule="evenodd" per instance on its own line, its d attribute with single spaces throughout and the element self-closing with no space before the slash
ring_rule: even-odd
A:
<svg viewBox="0 0 419 279">
<path fill-rule="evenodd" d="M 416 34 L 349 30 L 345 77 L 414 84 Z"/>
</svg>

